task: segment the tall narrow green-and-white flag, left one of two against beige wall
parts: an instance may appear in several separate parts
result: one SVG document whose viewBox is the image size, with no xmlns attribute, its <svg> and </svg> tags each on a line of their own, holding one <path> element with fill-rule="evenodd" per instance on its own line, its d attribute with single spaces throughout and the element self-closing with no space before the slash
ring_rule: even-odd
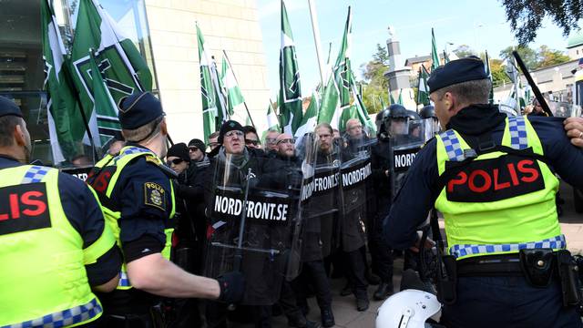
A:
<svg viewBox="0 0 583 328">
<path fill-rule="evenodd" d="M 204 50 L 204 36 L 197 24 L 197 38 L 199 43 L 200 62 L 200 98 L 202 99 L 202 126 L 204 130 L 204 142 L 209 143 L 209 136 L 218 130 L 220 120 L 217 109 L 217 96 L 215 86 L 212 83 L 210 72 L 210 57 Z"/>
</svg>

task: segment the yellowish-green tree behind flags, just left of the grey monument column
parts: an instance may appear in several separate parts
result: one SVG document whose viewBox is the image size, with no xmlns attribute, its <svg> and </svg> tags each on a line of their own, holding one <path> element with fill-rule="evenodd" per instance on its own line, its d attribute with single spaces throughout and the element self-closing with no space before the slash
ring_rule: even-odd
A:
<svg viewBox="0 0 583 328">
<path fill-rule="evenodd" d="M 373 60 L 361 65 L 364 81 L 363 83 L 363 102 L 369 113 L 380 111 L 381 104 L 379 97 L 383 97 L 385 104 L 388 104 L 387 89 L 389 82 L 384 78 L 384 72 L 388 68 L 389 54 L 386 47 L 380 44 L 376 45 L 376 52 L 373 54 Z"/>
</svg>

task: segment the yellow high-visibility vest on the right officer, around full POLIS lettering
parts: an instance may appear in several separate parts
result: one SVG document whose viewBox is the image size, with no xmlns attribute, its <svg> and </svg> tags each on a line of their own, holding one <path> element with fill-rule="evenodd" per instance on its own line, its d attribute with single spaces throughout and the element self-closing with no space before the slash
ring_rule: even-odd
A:
<svg viewBox="0 0 583 328">
<path fill-rule="evenodd" d="M 512 149 L 530 149 L 537 155 L 543 155 L 542 145 L 528 118 L 506 118 L 502 145 Z M 465 159 L 465 153 L 473 152 L 470 146 L 455 130 L 447 130 L 437 137 L 437 167 L 439 175 L 445 173 L 445 163 L 459 162 Z M 475 152 L 473 152 L 475 154 Z M 503 151 L 481 154 L 472 163 L 480 160 L 492 160 L 506 156 Z M 523 248 L 544 246 L 552 249 L 566 248 L 557 220 L 555 193 L 558 180 L 547 164 L 537 159 L 531 160 L 539 168 L 544 189 L 508 196 L 498 200 L 463 201 L 448 197 L 445 186 L 435 200 L 435 208 L 444 214 L 445 233 L 450 245 L 450 253 L 456 258 L 477 256 L 480 254 L 517 252 Z M 470 164 L 471 165 L 471 164 Z M 483 174 L 494 174 L 492 181 L 497 181 L 498 169 L 492 173 L 480 170 Z M 478 169 L 475 169 L 475 171 Z M 487 169 L 486 169 L 487 171 Z M 471 179 L 469 171 L 466 179 Z M 506 173 L 507 174 L 507 173 Z M 457 176 L 459 177 L 459 175 Z M 508 178 L 506 178 L 508 179 Z M 469 183 L 469 182 L 468 182 Z M 497 182 L 493 182 L 495 185 Z M 506 181 L 504 188 L 512 187 L 512 181 Z M 455 187 L 452 187 L 455 188 Z M 454 199 L 454 200 L 452 200 Z M 483 242 L 480 242 L 483 241 Z"/>
</svg>

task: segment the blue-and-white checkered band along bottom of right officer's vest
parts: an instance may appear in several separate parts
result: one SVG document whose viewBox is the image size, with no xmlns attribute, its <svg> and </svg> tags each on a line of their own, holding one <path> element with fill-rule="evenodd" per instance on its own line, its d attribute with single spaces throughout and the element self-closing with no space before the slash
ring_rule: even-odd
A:
<svg viewBox="0 0 583 328">
<path fill-rule="evenodd" d="M 565 235 L 555 236 L 542 241 L 530 241 L 517 244 L 500 244 L 500 245 L 454 245 L 449 249 L 449 253 L 455 258 L 467 255 L 487 255 L 501 253 L 506 251 L 520 251 L 532 249 L 564 249 L 567 247 Z"/>
</svg>

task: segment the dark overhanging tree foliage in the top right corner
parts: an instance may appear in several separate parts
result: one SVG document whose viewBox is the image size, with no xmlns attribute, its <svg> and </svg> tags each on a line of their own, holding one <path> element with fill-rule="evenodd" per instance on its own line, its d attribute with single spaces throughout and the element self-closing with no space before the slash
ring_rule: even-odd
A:
<svg viewBox="0 0 583 328">
<path fill-rule="evenodd" d="M 521 46 L 537 37 L 537 30 L 547 15 L 563 29 L 563 36 L 577 29 L 578 20 L 583 18 L 581 0 L 503 0 L 502 5 L 506 7 L 506 20 Z"/>
</svg>

